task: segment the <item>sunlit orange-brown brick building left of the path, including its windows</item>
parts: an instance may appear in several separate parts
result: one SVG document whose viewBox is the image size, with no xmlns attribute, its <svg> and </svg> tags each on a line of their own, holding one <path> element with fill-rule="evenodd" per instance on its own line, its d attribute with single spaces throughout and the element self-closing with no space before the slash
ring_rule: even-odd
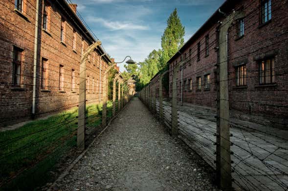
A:
<svg viewBox="0 0 288 191">
<path fill-rule="evenodd" d="M 96 40 L 76 15 L 76 7 L 65 0 L 39 0 L 39 5 L 36 0 L 0 2 L 1 124 L 78 105 L 80 58 Z M 88 103 L 99 102 L 105 85 L 104 71 L 111 62 L 101 46 L 89 55 L 86 61 Z"/>
</svg>

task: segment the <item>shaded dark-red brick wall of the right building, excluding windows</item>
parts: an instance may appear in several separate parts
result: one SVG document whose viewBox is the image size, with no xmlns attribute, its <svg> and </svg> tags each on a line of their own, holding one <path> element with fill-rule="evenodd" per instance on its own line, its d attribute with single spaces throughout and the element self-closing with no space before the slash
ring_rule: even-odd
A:
<svg viewBox="0 0 288 191">
<path fill-rule="evenodd" d="M 241 117 L 250 115 L 248 119 L 252 121 L 263 122 L 272 120 L 276 123 L 287 124 L 288 118 L 288 1 L 272 0 L 272 19 L 265 25 L 260 25 L 260 1 L 241 0 L 232 9 L 244 13 L 244 36 L 236 39 L 236 21 L 233 22 L 228 33 L 228 77 L 229 77 L 229 105 L 232 116 Z M 217 63 L 216 47 L 216 27 L 218 20 L 214 25 L 207 26 L 205 32 L 189 44 L 181 54 L 189 55 L 189 49 L 192 49 L 192 59 L 188 59 L 183 70 L 183 81 L 192 78 L 192 91 L 183 90 L 183 101 L 197 105 L 216 107 L 216 86 L 214 64 Z M 205 56 L 205 36 L 209 34 L 209 56 Z M 197 61 L 197 43 L 201 44 L 200 60 Z M 259 85 L 259 60 L 257 57 L 275 54 L 275 84 L 268 86 Z M 236 87 L 235 63 L 241 60 L 247 60 L 246 63 L 246 86 Z M 170 84 L 172 83 L 172 69 L 174 64 L 180 62 L 180 56 L 170 60 Z M 196 90 L 196 77 L 201 76 L 204 84 L 204 75 L 210 73 L 210 90 Z M 181 71 L 177 71 L 177 97 L 180 100 L 181 95 Z M 188 82 L 187 82 L 188 84 Z M 170 86 L 171 87 L 171 86 Z M 169 96 L 172 96 L 170 89 Z M 286 120 L 286 121 L 285 121 Z M 274 123 L 275 124 L 275 123 Z"/>
</svg>

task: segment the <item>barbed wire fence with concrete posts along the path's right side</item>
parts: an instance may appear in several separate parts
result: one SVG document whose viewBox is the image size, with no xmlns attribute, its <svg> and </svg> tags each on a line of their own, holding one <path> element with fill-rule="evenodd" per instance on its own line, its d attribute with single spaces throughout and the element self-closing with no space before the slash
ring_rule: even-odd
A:
<svg viewBox="0 0 288 191">
<path fill-rule="evenodd" d="M 280 9 L 280 7 L 278 8 Z M 255 12 L 256 10 L 253 10 L 245 19 L 253 19 L 251 15 Z M 218 52 L 226 51 L 226 37 L 221 37 L 221 35 L 223 31 L 226 35 L 231 21 L 233 21 L 233 16 L 228 16 L 226 20 L 222 21 L 218 28 L 218 39 L 213 38 L 209 42 L 208 49 L 210 51 L 215 50 L 215 47 L 218 47 Z M 254 24 L 251 22 L 245 28 L 253 27 Z M 210 32 L 211 36 L 217 36 L 216 32 Z M 256 47 L 253 49 L 254 51 L 229 58 L 229 60 L 228 57 L 218 57 L 215 62 L 187 72 L 187 67 L 191 66 L 191 63 L 198 57 L 196 46 L 192 48 L 191 55 L 183 58 L 177 65 L 170 64 L 170 69 L 165 71 L 165 73 L 169 73 L 170 82 L 172 81 L 172 86 L 169 84 L 171 98 L 163 100 L 164 91 L 161 78 L 164 73 L 155 76 L 139 93 L 143 103 L 156 118 L 170 129 L 170 133 L 183 140 L 215 169 L 216 183 L 224 190 L 233 187 L 235 190 L 246 191 L 288 191 L 287 130 L 273 127 L 279 125 L 277 121 L 270 121 L 265 126 L 241 120 L 230 115 L 229 109 L 229 106 L 236 104 L 253 103 L 255 111 L 259 111 L 257 116 L 285 119 L 285 116 L 288 116 L 288 106 L 283 99 L 287 98 L 283 97 L 283 94 L 278 95 L 275 90 L 248 89 L 246 91 L 250 94 L 260 91 L 264 97 L 273 95 L 276 101 L 267 103 L 260 97 L 255 97 L 254 100 L 245 98 L 235 100 L 230 97 L 228 88 L 226 88 L 229 87 L 230 90 L 229 84 L 233 84 L 237 80 L 236 72 L 229 71 L 228 74 L 228 61 L 237 61 L 260 49 L 277 46 L 287 39 L 287 36 L 279 38 L 275 35 L 257 43 L 249 43 L 245 48 Z M 204 41 L 204 38 L 200 39 L 201 44 Z M 259 44 L 266 44 L 266 46 L 257 48 Z M 206 49 L 201 50 L 200 56 L 204 57 L 205 51 Z M 235 52 L 230 51 L 229 54 L 233 55 Z M 287 66 L 275 66 L 275 79 L 287 76 L 286 68 Z M 184 80 L 181 79 L 180 73 L 183 70 L 186 71 L 185 76 L 188 76 L 185 79 L 193 79 L 191 83 L 184 83 Z M 202 76 L 206 71 L 209 71 L 210 74 L 208 84 L 201 78 L 200 82 L 197 82 L 196 77 Z M 255 73 L 258 74 L 259 70 L 245 70 L 246 80 L 259 80 L 259 76 Z M 207 85 L 206 88 L 205 85 Z M 287 82 L 284 82 L 284 85 L 287 85 Z M 279 93 L 287 92 L 281 88 L 278 91 Z M 201 97 L 194 96 L 197 92 Z M 238 94 L 241 97 L 241 92 Z M 209 107 L 205 107 L 205 105 L 209 105 Z M 263 106 L 271 111 L 273 108 L 280 108 L 282 115 L 275 116 L 261 111 L 260 108 Z"/>
</svg>

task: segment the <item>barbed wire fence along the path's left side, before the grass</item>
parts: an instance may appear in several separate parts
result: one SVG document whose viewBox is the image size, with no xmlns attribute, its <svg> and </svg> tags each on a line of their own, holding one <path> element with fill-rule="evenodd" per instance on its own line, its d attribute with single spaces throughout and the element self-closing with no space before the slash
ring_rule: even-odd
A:
<svg viewBox="0 0 288 191">
<path fill-rule="evenodd" d="M 23 14 L 30 20 L 29 25 L 35 27 L 35 6 L 30 1 L 23 1 L 23 3 L 25 3 L 27 10 L 27 12 L 23 10 Z M 14 8 L 14 2 L 4 0 L 0 2 L 0 6 L 3 11 L 10 11 L 11 7 Z M 42 17 L 41 12 L 39 17 Z M 53 19 L 59 21 L 61 17 L 57 15 Z M 76 40 L 77 56 L 60 52 L 57 46 L 52 46 L 52 43 L 59 44 L 57 38 L 59 34 L 54 33 L 59 29 L 59 26 L 55 20 L 48 18 L 48 21 L 50 43 L 44 38 L 38 38 L 39 44 L 44 44 L 41 46 L 42 51 L 49 55 L 48 61 L 46 65 L 43 65 L 42 57 L 36 58 L 38 63 L 36 114 L 37 116 L 44 116 L 44 118 L 29 122 L 15 130 L 0 132 L 0 189 L 32 190 L 32 187 L 34 189 L 35 186 L 45 183 L 49 179 L 47 174 L 53 170 L 59 160 L 66 157 L 66 153 L 71 152 L 71 150 L 76 151 L 77 148 L 80 151 L 83 150 L 132 97 L 129 91 L 130 86 L 119 75 L 114 76 L 117 79 L 114 80 L 113 87 L 111 87 L 112 91 L 108 93 L 107 89 L 110 83 L 107 75 L 114 66 L 104 64 L 103 60 L 98 59 L 99 57 L 94 57 L 93 52 L 85 54 L 89 45 L 84 46 L 82 52 L 80 47 L 83 44 L 80 40 Z M 38 26 L 39 28 L 42 27 L 41 24 Z M 23 42 L 34 43 L 34 31 L 31 32 L 22 28 L 7 17 L 0 17 L 0 29 L 6 31 L 7 34 L 17 34 Z M 73 38 L 69 33 L 66 33 L 68 29 L 72 30 L 72 28 L 67 28 L 64 31 L 67 42 L 65 46 L 73 50 L 74 47 L 70 43 Z M 85 37 L 88 38 L 89 42 L 94 41 L 89 36 Z M 14 50 L 9 47 L 17 46 L 17 44 L 13 39 L 4 37 L 0 37 L 0 42 L 0 85 L 2 89 L 10 90 L 13 86 L 12 80 L 6 79 L 7 76 L 13 75 L 13 71 L 9 68 L 13 61 Z M 7 108 L 5 111 L 1 110 L 1 124 L 17 123 L 21 118 L 29 118 L 31 113 L 32 96 L 24 93 L 33 87 L 34 76 L 30 69 L 33 68 L 35 58 L 33 57 L 33 50 L 29 46 L 23 48 L 25 55 L 21 64 L 25 68 L 22 68 L 24 72 L 20 75 L 20 84 L 24 89 L 23 94 L 14 91 L 11 95 L 1 97 L 0 107 Z M 92 48 L 91 51 L 94 49 L 97 47 Z M 100 64 L 103 65 L 101 72 Z M 60 76 L 59 65 L 64 66 L 61 71 L 61 79 L 55 77 Z M 72 77 L 73 72 L 71 73 L 71 71 L 73 69 L 75 70 Z M 47 76 L 43 76 L 43 70 Z M 101 80 L 99 79 L 100 73 L 103 75 Z M 48 83 L 42 84 L 43 79 Z M 108 100 L 109 97 L 112 97 L 112 100 Z M 9 111 L 8 108 L 10 108 Z M 27 108 L 27 110 L 15 112 L 11 118 L 4 117 L 11 108 L 15 111 L 19 108 Z"/>
</svg>

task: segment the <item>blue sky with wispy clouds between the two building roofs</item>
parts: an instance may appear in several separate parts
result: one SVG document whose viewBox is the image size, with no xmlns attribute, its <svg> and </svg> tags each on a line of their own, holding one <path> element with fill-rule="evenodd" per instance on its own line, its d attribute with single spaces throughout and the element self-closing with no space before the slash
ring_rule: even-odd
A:
<svg viewBox="0 0 288 191">
<path fill-rule="evenodd" d="M 122 61 L 143 61 L 161 48 L 161 35 L 174 8 L 185 27 L 185 42 L 224 0 L 72 0 L 107 53 Z M 120 64 L 123 71 L 124 64 Z"/>
</svg>

